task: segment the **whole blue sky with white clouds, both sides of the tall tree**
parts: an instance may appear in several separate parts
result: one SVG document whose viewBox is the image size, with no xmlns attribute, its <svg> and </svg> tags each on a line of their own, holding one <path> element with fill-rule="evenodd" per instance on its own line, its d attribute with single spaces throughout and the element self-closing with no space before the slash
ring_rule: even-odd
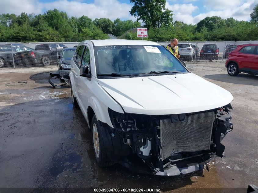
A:
<svg viewBox="0 0 258 193">
<path fill-rule="evenodd" d="M 258 0 L 167 0 L 166 8 L 173 11 L 173 21 L 196 24 L 207 16 L 249 21 L 257 3 Z M 58 9 L 69 17 L 85 15 L 93 20 L 102 17 L 112 21 L 116 18 L 136 20 L 129 14 L 132 6 L 130 0 L 0 0 L 0 14 L 43 14 L 49 9 Z"/>
</svg>

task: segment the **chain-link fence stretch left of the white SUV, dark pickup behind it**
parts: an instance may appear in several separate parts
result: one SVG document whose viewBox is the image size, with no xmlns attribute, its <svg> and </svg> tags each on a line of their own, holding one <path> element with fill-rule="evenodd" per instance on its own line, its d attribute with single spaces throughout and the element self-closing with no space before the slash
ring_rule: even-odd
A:
<svg viewBox="0 0 258 193">
<path fill-rule="evenodd" d="M 57 66 L 63 48 L 74 48 L 79 42 L 0 43 L 0 70 Z"/>
</svg>

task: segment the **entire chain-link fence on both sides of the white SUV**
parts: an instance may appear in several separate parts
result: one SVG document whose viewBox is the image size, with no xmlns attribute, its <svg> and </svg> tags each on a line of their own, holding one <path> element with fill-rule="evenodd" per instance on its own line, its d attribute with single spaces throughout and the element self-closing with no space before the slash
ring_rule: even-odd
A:
<svg viewBox="0 0 258 193">
<path fill-rule="evenodd" d="M 169 41 L 157 42 L 168 45 Z M 237 45 L 258 41 L 179 42 L 180 60 L 227 60 Z M 34 68 L 56 66 L 63 48 L 74 48 L 79 42 L 0 43 L 0 70 L 3 68 Z"/>
</svg>

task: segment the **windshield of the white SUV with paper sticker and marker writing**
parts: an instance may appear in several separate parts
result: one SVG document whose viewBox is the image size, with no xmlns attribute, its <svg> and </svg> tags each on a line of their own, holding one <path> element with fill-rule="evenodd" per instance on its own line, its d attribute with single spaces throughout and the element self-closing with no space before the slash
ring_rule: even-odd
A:
<svg viewBox="0 0 258 193">
<path fill-rule="evenodd" d="M 94 47 L 97 74 L 141 74 L 153 71 L 187 72 L 163 46 L 112 45 Z"/>
</svg>

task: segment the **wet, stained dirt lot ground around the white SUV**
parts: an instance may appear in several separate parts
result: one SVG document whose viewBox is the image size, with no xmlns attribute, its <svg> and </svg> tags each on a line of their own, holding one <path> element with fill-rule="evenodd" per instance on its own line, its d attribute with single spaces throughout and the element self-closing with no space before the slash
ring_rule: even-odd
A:
<svg viewBox="0 0 258 193">
<path fill-rule="evenodd" d="M 96 165 L 84 117 L 71 104 L 69 86 L 52 88 L 49 73 L 0 70 L 0 188 L 158 188 L 162 192 L 229 188 L 246 192 L 248 184 L 258 185 L 258 76 L 230 77 L 221 61 L 186 65 L 234 96 L 234 130 L 223 140 L 226 157 L 211 161 L 209 172 L 160 177 L 133 173 L 119 165 L 102 169 Z M 8 85 L 24 80 L 27 84 Z"/>
</svg>

